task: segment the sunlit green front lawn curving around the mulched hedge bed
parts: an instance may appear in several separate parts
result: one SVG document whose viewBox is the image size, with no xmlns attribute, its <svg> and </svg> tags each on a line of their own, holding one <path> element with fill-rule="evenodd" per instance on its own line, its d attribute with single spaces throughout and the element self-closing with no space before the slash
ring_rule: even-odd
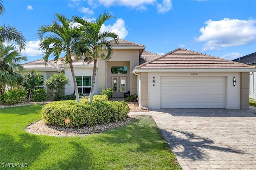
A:
<svg viewBox="0 0 256 170">
<path fill-rule="evenodd" d="M 32 135 L 24 129 L 41 118 L 42 105 L 0 110 L 0 169 L 23 164 L 36 170 L 181 169 L 150 117 L 86 137 Z"/>
</svg>

